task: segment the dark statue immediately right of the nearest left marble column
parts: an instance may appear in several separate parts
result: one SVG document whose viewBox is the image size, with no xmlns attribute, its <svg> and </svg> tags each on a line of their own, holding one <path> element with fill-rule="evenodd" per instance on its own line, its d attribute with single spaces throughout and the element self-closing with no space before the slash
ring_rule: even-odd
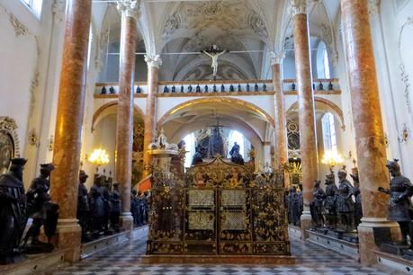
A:
<svg viewBox="0 0 413 275">
<path fill-rule="evenodd" d="M 89 201 L 87 200 L 87 189 L 85 182 L 89 176 L 85 171 L 79 172 L 79 187 L 77 189 L 77 211 L 76 217 L 79 220 L 79 225 L 82 227 L 82 240 L 86 239 L 87 232 L 87 213 L 89 211 Z"/>
</svg>

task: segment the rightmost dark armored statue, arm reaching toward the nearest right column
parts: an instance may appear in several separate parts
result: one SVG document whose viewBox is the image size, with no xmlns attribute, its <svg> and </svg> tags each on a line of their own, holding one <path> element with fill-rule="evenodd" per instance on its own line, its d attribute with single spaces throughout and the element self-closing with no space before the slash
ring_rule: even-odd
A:
<svg viewBox="0 0 413 275">
<path fill-rule="evenodd" d="M 401 244 L 408 243 L 407 237 L 409 235 L 410 247 L 413 247 L 413 242 L 411 241 L 413 235 L 411 235 L 409 230 L 411 220 L 409 215 L 409 210 L 411 210 L 409 198 L 413 195 L 413 186 L 407 177 L 401 175 L 398 161 L 395 159 L 387 162 L 387 169 L 391 173 L 390 189 L 379 187 L 379 191 L 390 195 L 389 216 L 387 218 L 399 224 L 402 237 Z"/>
</svg>

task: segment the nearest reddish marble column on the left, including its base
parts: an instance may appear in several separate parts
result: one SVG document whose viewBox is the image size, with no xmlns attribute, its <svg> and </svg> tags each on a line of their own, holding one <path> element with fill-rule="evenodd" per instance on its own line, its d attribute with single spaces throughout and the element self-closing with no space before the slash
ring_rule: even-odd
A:
<svg viewBox="0 0 413 275">
<path fill-rule="evenodd" d="M 54 241 L 59 249 L 67 249 L 67 262 L 80 260 L 81 230 L 76 207 L 91 12 L 92 0 L 67 1 L 53 155 L 56 169 L 50 185 L 51 199 L 59 207 Z"/>
</svg>

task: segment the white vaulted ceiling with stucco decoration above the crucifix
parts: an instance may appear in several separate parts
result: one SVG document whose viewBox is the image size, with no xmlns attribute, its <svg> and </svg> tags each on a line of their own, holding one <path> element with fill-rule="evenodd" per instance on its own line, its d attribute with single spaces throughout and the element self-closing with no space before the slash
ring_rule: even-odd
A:
<svg viewBox="0 0 413 275">
<path fill-rule="evenodd" d="M 121 17 L 114 2 L 94 3 L 101 55 L 120 37 Z M 324 40 L 336 57 L 334 30 L 340 1 L 309 2 L 310 34 Z M 139 44 L 145 49 L 137 50 L 161 55 L 161 80 L 210 79 L 211 58 L 201 51 L 212 44 L 229 51 L 220 56 L 219 79 L 265 78 L 270 52 L 293 47 L 290 6 L 290 0 L 141 0 L 138 27 L 144 43 Z M 108 30 L 117 34 L 108 35 Z"/>
</svg>

